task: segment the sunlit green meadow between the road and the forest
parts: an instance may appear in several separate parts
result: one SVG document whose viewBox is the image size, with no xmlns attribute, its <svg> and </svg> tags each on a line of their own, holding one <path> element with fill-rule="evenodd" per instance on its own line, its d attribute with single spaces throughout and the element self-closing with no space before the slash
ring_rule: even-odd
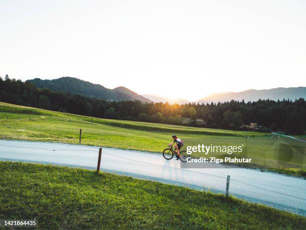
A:
<svg viewBox="0 0 306 230">
<path fill-rule="evenodd" d="M 77 144 L 80 128 L 82 144 L 141 151 L 161 152 L 171 141 L 173 133 L 184 140 L 185 146 L 243 145 L 242 153 L 231 156 L 252 158 L 253 163 L 247 166 L 265 166 L 279 172 L 306 176 L 305 169 L 284 168 L 277 161 L 279 156 L 287 155 L 287 146 L 294 145 L 289 149 L 292 151 L 289 166 L 306 163 L 306 158 L 300 154 L 304 143 L 286 137 L 272 139 L 271 134 L 267 133 L 99 119 L 0 103 L 0 139 Z M 192 154 L 203 156 L 202 153 Z M 214 153 L 207 156 L 225 155 Z"/>
</svg>

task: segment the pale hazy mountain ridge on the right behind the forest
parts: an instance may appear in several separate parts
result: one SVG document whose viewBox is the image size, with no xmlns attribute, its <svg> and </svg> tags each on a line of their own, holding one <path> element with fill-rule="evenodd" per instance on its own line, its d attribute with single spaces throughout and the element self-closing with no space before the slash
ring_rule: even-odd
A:
<svg viewBox="0 0 306 230">
<path fill-rule="evenodd" d="M 242 101 L 257 101 L 258 99 L 270 99 L 277 101 L 282 99 L 295 100 L 298 98 L 306 99 L 306 87 L 292 87 L 292 88 L 275 88 L 266 90 L 249 89 L 242 92 L 225 92 L 214 93 L 201 98 L 199 103 L 224 102 L 230 100 Z"/>
</svg>

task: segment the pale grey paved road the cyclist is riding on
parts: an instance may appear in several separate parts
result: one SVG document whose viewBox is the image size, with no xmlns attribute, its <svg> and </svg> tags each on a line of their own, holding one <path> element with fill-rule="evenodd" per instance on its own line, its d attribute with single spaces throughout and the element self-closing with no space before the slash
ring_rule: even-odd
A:
<svg viewBox="0 0 306 230">
<path fill-rule="evenodd" d="M 0 160 L 95 169 L 97 156 L 98 147 L 93 146 L 0 140 Z M 216 193 L 225 192 L 230 175 L 231 195 L 306 216 L 306 180 L 302 178 L 245 168 L 181 169 L 174 158 L 114 148 L 103 148 L 101 170 Z"/>
</svg>

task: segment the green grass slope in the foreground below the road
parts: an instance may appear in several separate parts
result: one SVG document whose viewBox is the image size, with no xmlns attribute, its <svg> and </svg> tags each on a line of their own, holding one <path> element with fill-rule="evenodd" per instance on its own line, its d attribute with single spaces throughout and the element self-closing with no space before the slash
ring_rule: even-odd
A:
<svg viewBox="0 0 306 230">
<path fill-rule="evenodd" d="M 40 229 L 306 229 L 289 212 L 127 176 L 7 161 L 0 173 L 0 219 Z"/>
</svg>

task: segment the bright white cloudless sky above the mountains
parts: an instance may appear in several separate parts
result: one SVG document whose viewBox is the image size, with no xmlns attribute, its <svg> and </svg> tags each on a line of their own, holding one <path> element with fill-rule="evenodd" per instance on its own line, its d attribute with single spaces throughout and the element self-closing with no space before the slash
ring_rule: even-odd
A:
<svg viewBox="0 0 306 230">
<path fill-rule="evenodd" d="M 0 0 L 0 76 L 138 94 L 306 86 L 306 1 Z"/>
</svg>

